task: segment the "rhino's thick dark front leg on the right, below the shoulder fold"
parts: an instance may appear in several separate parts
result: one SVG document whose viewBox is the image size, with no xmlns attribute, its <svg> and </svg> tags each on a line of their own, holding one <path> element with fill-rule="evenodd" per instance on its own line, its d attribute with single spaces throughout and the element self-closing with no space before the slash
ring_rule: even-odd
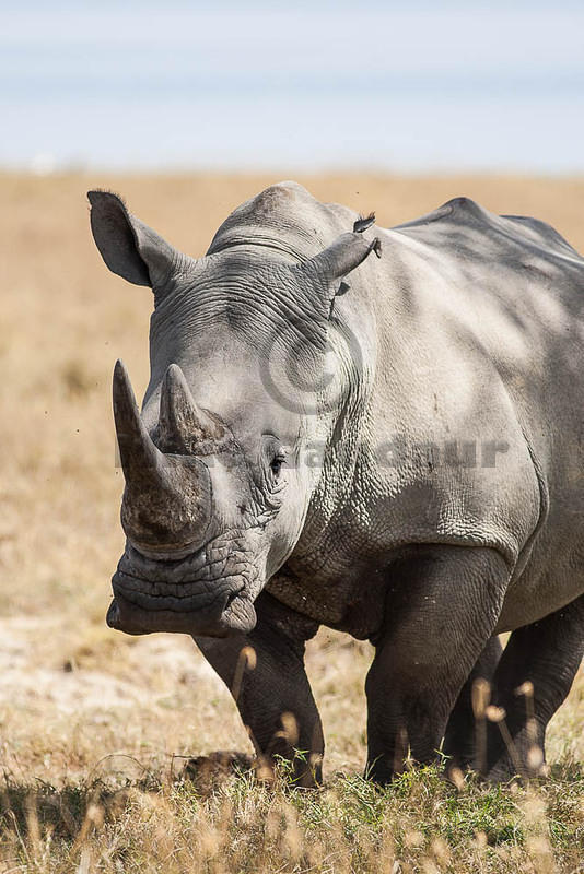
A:
<svg viewBox="0 0 584 874">
<path fill-rule="evenodd" d="M 367 773 L 387 783 L 408 748 L 435 759 L 446 723 L 492 636 L 509 580 L 501 555 L 419 546 L 388 570 L 385 627 L 367 674 Z"/>
</svg>

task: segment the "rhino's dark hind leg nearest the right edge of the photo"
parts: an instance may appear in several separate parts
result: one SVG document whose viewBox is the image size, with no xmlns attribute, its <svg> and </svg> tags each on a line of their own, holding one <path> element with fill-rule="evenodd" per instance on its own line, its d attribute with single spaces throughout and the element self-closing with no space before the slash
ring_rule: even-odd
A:
<svg viewBox="0 0 584 874">
<path fill-rule="evenodd" d="M 583 654 L 584 595 L 513 631 L 494 674 L 494 702 L 505 719 L 488 725 L 489 780 L 544 772 L 546 729 L 570 692 Z"/>
</svg>

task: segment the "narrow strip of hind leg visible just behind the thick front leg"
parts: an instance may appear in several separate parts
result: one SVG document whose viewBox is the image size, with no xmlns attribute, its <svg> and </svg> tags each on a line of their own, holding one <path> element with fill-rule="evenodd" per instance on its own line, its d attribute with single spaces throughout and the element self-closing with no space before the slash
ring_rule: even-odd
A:
<svg viewBox="0 0 584 874">
<path fill-rule="evenodd" d="M 491 637 L 456 699 L 448 719 L 443 745 L 444 755 L 452 759 L 449 768 L 456 767 L 464 770 L 474 766 L 477 760 L 484 761 L 487 742 L 482 736 L 481 727 L 477 725 L 475 719 L 471 701 L 472 686 L 477 680 L 492 683 L 501 652 L 499 637 Z"/>
</svg>

